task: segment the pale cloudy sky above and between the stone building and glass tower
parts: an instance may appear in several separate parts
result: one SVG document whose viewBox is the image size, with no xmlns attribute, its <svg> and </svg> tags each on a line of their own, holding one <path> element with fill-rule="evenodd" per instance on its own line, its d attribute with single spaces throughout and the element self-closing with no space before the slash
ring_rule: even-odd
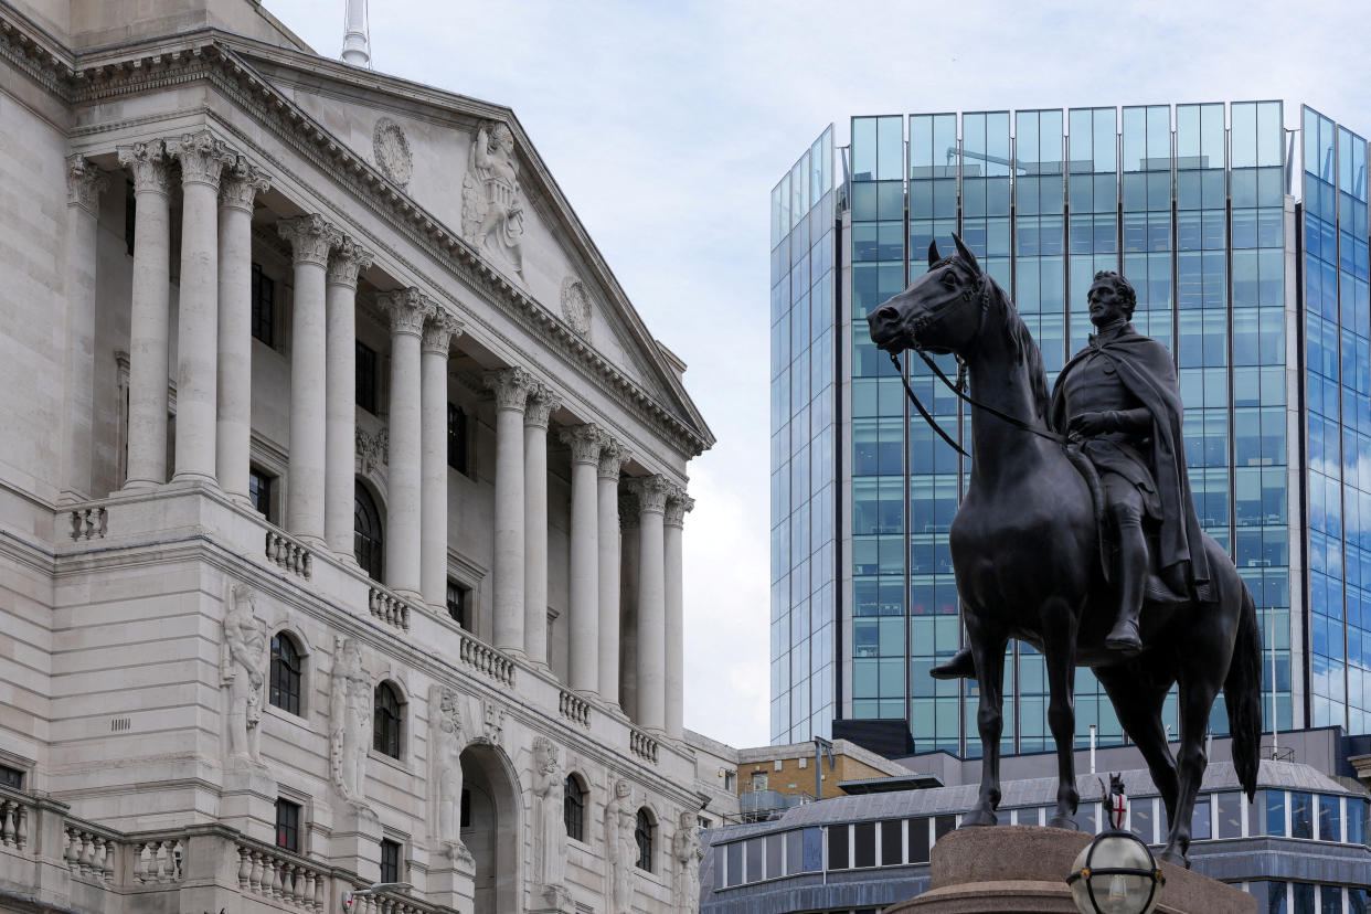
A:
<svg viewBox="0 0 1371 914">
<path fill-rule="evenodd" d="M 319 53 L 344 0 L 265 0 Z M 686 725 L 768 740 L 771 188 L 847 118 L 1285 99 L 1371 132 L 1364 3 L 373 0 L 377 70 L 514 108 L 718 436 L 691 463 Z M 454 163 L 458 169 L 459 163 Z"/>
</svg>

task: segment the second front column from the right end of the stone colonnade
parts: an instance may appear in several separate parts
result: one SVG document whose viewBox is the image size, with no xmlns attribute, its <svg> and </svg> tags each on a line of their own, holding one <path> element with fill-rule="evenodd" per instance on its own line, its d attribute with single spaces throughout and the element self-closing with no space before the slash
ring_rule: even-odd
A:
<svg viewBox="0 0 1371 914">
<path fill-rule="evenodd" d="M 670 484 L 661 475 L 635 480 L 638 533 L 638 724 L 666 729 L 666 580 L 664 515 Z"/>
</svg>

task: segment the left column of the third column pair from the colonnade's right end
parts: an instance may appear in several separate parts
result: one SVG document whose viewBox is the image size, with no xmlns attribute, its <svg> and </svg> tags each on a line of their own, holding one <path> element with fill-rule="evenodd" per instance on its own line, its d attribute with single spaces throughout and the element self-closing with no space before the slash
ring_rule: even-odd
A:
<svg viewBox="0 0 1371 914">
<path fill-rule="evenodd" d="M 495 647 L 524 654 L 524 369 L 485 375 L 495 392 Z"/>
</svg>

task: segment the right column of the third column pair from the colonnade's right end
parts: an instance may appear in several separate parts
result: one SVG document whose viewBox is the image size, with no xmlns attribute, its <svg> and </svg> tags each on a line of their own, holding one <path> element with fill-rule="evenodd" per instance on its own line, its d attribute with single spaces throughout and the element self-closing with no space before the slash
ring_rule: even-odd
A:
<svg viewBox="0 0 1371 914">
<path fill-rule="evenodd" d="M 524 651 L 547 665 L 547 421 L 562 406 L 546 384 L 524 412 Z"/>
</svg>

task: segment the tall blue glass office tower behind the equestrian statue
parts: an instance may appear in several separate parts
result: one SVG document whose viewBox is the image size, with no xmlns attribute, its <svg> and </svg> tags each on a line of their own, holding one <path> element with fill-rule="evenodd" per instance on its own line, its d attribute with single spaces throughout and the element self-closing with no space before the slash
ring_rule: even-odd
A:
<svg viewBox="0 0 1371 914">
<path fill-rule="evenodd" d="M 1132 282 L 1134 325 L 1176 360 L 1197 514 L 1259 607 L 1267 729 L 1274 707 L 1281 729 L 1371 730 L 1366 160 L 1281 101 L 858 116 L 840 149 L 824 130 L 772 192 L 772 741 L 882 718 L 916 751 L 979 752 L 975 684 L 928 676 L 962 636 L 947 529 L 969 462 L 864 321 L 953 232 L 1049 384 L 1090 333 L 1094 273 Z M 905 370 L 971 451 L 965 408 Z M 1004 751 L 1047 750 L 1042 658 L 1013 643 L 1006 662 Z M 1079 743 L 1091 725 L 1123 740 L 1080 670 Z"/>
</svg>

